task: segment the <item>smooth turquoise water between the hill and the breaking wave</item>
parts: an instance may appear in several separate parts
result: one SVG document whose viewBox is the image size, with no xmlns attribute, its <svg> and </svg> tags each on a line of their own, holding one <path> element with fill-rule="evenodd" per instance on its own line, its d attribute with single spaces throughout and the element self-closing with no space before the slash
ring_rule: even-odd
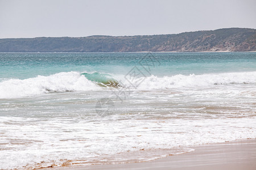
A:
<svg viewBox="0 0 256 170">
<path fill-rule="evenodd" d="M 255 71 L 255 53 L 152 53 L 156 76 Z M 146 53 L 1 53 L 0 78 L 26 79 L 60 72 L 127 74 Z"/>
</svg>

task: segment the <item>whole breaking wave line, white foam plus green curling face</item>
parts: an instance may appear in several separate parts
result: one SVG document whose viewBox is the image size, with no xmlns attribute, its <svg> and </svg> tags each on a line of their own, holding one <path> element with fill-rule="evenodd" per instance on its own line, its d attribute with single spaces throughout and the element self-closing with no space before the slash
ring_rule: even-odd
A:
<svg viewBox="0 0 256 170">
<path fill-rule="evenodd" d="M 103 73 L 57 73 L 49 76 L 38 75 L 28 79 L 3 79 L 0 82 L 0 99 L 42 95 L 48 92 L 63 91 L 89 91 L 102 90 L 104 87 L 131 86 L 129 80 L 122 76 L 116 79 L 110 74 Z M 134 78 L 139 82 L 136 87 L 141 90 L 166 89 L 180 87 L 216 86 L 218 84 L 256 83 L 256 71 L 245 73 L 221 73 L 202 75 L 174 75 L 174 76 L 148 76 L 146 78 Z"/>
</svg>

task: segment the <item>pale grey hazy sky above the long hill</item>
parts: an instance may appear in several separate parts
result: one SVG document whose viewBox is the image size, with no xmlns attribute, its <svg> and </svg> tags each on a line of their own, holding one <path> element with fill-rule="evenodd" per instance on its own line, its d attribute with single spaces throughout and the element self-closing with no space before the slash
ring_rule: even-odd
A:
<svg viewBox="0 0 256 170">
<path fill-rule="evenodd" d="M 0 38 L 256 28 L 255 0 L 0 0 Z"/>
</svg>

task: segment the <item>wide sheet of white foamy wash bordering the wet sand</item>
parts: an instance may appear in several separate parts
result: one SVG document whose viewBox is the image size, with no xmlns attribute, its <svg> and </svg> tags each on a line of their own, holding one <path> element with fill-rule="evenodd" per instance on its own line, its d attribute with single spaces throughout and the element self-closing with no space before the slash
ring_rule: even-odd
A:
<svg viewBox="0 0 256 170">
<path fill-rule="evenodd" d="M 256 136 L 255 117 L 193 121 L 137 118 L 127 121 L 120 115 L 93 121 L 93 117 L 76 116 L 74 120 L 13 121 L 14 117 L 3 117 L 0 169 L 143 162 L 193 151 L 191 145 Z"/>
</svg>

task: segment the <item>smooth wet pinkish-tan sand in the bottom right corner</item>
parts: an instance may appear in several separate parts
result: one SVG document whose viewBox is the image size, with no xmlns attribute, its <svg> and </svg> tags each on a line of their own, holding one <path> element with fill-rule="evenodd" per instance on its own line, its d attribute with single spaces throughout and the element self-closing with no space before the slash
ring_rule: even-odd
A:
<svg viewBox="0 0 256 170">
<path fill-rule="evenodd" d="M 193 148 L 195 151 L 186 154 L 167 156 L 166 158 L 156 159 L 149 162 L 43 169 L 256 169 L 256 139 L 200 145 L 189 148 Z"/>
</svg>

